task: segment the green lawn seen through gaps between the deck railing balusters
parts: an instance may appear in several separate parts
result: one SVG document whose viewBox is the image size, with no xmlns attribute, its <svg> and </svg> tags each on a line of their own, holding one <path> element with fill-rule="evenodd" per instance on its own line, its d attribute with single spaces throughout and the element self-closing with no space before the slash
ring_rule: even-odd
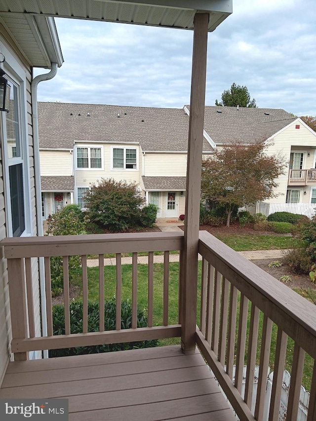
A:
<svg viewBox="0 0 316 421">
<path fill-rule="evenodd" d="M 178 323 L 178 273 L 179 263 L 170 263 L 170 275 L 169 275 L 169 324 Z M 199 273 L 201 270 L 201 262 L 199 262 Z M 105 298 L 106 300 L 111 299 L 116 294 L 116 267 L 106 266 L 104 268 L 105 273 Z M 200 277 L 200 275 L 199 275 Z M 122 299 L 131 299 L 131 286 L 132 286 L 132 266 L 122 265 Z M 138 265 L 138 305 L 141 308 L 148 308 L 148 265 Z M 315 299 L 315 291 L 311 293 Z M 154 265 L 154 325 L 162 324 L 163 315 L 163 264 Z M 98 268 L 88 268 L 88 299 L 90 301 L 98 301 L 99 299 L 99 272 Z M 199 301 L 200 301 L 200 285 L 198 285 L 198 300 L 197 300 L 197 324 L 199 324 Z M 239 302 L 239 299 L 238 299 Z M 261 348 L 261 331 L 263 324 L 263 314 L 260 314 L 259 321 L 259 339 L 257 348 L 257 364 L 260 359 L 260 348 Z M 250 325 L 250 304 L 248 311 L 248 329 Z M 237 329 L 238 331 L 238 320 Z M 276 348 L 276 335 L 277 327 L 273 325 L 272 341 L 271 341 L 271 352 L 270 352 L 270 367 L 273 370 L 275 360 L 275 348 Z M 160 345 L 179 344 L 179 338 L 160 340 Z M 237 334 L 236 334 L 237 343 Z M 294 344 L 291 339 L 288 340 L 288 351 L 286 356 L 285 368 L 291 371 L 291 363 L 293 358 Z M 246 353 L 247 355 L 247 344 Z M 313 372 L 314 360 L 307 355 L 304 367 L 303 385 L 307 390 L 311 387 L 311 378 Z"/>
</svg>

